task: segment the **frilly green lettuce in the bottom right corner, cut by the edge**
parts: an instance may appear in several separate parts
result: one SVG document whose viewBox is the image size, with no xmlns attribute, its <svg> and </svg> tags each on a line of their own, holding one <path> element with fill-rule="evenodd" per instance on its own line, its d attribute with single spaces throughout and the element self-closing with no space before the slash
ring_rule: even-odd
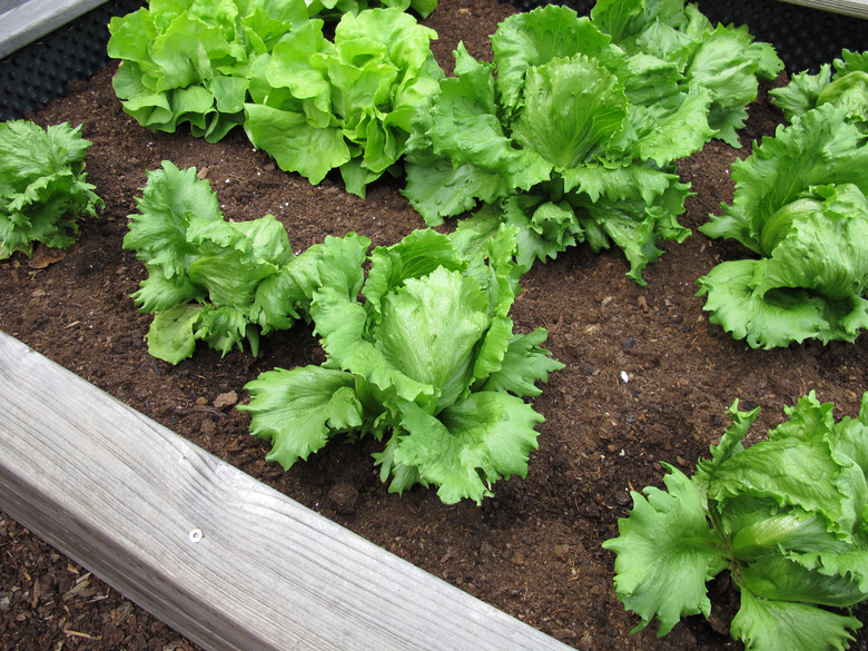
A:
<svg viewBox="0 0 868 651">
<path fill-rule="evenodd" d="M 868 393 L 859 417 L 836 422 L 815 394 L 748 447 L 759 410 L 730 407 L 733 424 L 688 477 L 669 464 L 665 489 L 633 493 L 619 536 L 615 590 L 657 618 L 663 635 L 711 603 L 706 583 L 724 570 L 740 592 L 730 625 L 749 651 L 844 651 L 861 623 L 839 609 L 868 599 Z"/>
</svg>

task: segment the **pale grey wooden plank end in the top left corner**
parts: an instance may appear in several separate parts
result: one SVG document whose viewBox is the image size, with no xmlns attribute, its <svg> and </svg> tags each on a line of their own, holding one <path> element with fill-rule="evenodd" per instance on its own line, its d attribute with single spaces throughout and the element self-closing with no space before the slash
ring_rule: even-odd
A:
<svg viewBox="0 0 868 651">
<path fill-rule="evenodd" d="M 6 1 L 0 6 L 0 9 L 8 9 L 0 13 L 0 59 L 103 2 L 106 0 Z"/>
</svg>

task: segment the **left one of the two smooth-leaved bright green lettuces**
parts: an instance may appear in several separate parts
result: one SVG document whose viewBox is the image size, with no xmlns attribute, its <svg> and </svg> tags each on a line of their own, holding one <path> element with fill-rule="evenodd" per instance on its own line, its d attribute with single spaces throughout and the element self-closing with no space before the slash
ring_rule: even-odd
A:
<svg viewBox="0 0 868 651">
<path fill-rule="evenodd" d="M 109 23 L 115 92 L 149 129 L 216 142 L 244 121 L 256 59 L 307 18 L 304 0 L 152 0 Z"/>
</svg>

